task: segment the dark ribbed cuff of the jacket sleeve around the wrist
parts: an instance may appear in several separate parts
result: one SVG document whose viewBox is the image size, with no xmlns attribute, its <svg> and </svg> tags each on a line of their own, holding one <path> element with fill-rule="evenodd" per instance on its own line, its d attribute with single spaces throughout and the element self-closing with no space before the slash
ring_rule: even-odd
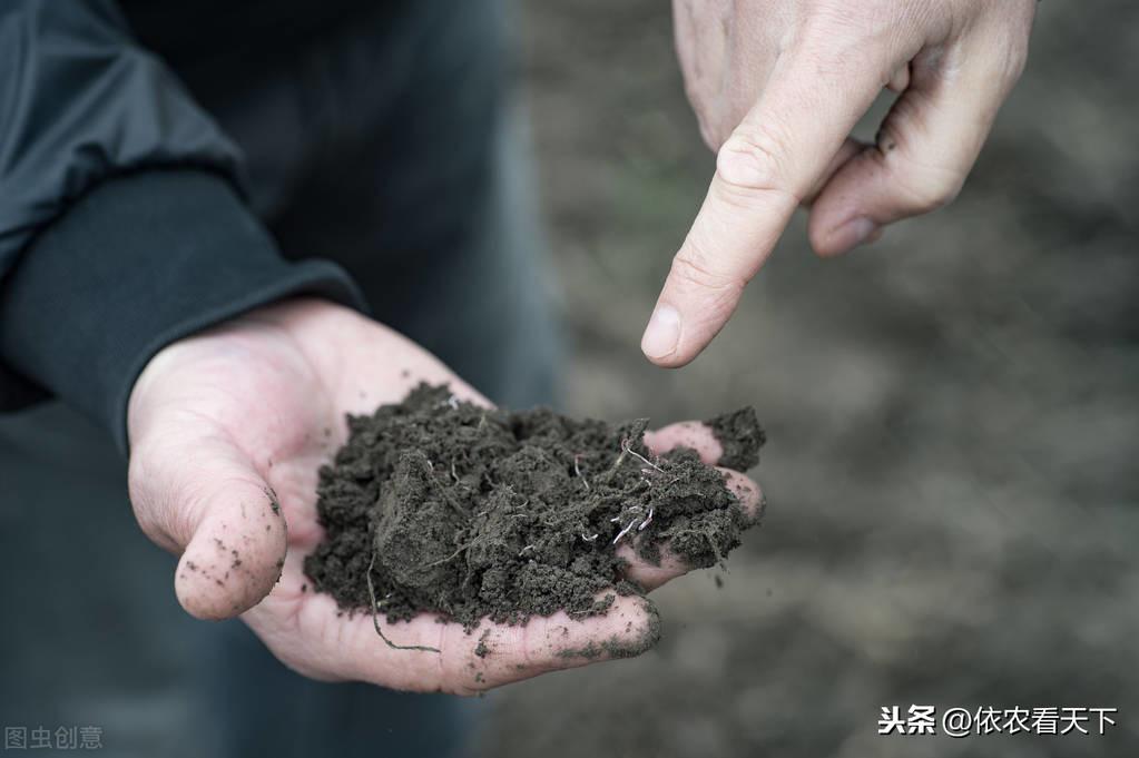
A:
<svg viewBox="0 0 1139 758">
<path fill-rule="evenodd" d="M 113 178 L 47 226 L 0 283 L 0 356 L 9 372 L 95 418 L 125 452 L 126 403 L 155 353 L 295 295 L 363 310 L 339 266 L 285 261 L 220 176 Z"/>
</svg>

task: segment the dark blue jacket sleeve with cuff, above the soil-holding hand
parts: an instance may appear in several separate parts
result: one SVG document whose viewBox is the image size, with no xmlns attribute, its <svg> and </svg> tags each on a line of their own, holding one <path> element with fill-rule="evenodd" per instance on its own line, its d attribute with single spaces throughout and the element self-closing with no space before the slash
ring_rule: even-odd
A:
<svg viewBox="0 0 1139 758">
<path fill-rule="evenodd" d="M 281 297 L 360 306 L 328 262 L 286 262 L 240 157 L 113 0 L 0 3 L 0 411 L 57 395 L 125 450 L 146 362 Z"/>
</svg>

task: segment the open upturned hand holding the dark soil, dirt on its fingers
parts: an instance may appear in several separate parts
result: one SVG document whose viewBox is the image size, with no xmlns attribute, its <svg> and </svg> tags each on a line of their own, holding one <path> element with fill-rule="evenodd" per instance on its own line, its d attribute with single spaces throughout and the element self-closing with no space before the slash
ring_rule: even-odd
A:
<svg viewBox="0 0 1139 758">
<path fill-rule="evenodd" d="M 128 411 L 130 495 L 146 534 L 181 554 L 174 587 L 182 607 L 206 619 L 241 615 L 273 654 L 308 676 L 401 690 L 472 693 L 655 642 L 652 605 L 617 596 L 606 616 L 489 625 L 485 638 L 486 623 L 468 635 L 428 613 L 380 620 L 393 642 L 439 652 L 394 650 L 369 613 L 341 615 L 331 598 L 306 590 L 303 559 L 321 539 L 317 469 L 345 440 L 345 413 L 398 402 L 421 380 L 487 404 L 403 337 L 317 300 L 255 311 L 155 355 Z M 648 444 L 658 452 L 687 444 L 710 462 L 720 455 L 700 425 L 654 432 Z M 729 476 L 754 511 L 755 484 Z M 634 559 L 631 550 L 625 555 Z M 652 587 L 683 570 L 666 557 L 629 572 Z M 480 641 L 491 654 L 475 654 Z M 601 656 L 568 652 L 612 641 Z"/>
</svg>

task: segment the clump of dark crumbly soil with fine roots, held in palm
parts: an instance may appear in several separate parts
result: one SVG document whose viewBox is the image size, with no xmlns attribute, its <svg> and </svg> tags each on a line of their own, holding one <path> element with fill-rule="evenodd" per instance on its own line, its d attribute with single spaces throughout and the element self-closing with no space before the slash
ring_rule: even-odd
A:
<svg viewBox="0 0 1139 758">
<path fill-rule="evenodd" d="M 708 422 L 727 463 L 759 460 L 752 409 Z M 325 541 L 305 560 L 317 590 L 390 620 L 419 611 L 477 625 L 565 610 L 604 613 L 623 579 L 617 549 L 695 567 L 751 526 L 723 476 L 691 450 L 654 456 L 647 421 L 609 425 L 548 409 L 490 410 L 420 384 L 398 404 L 349 417 L 349 440 L 320 470 Z M 370 576 L 369 576 L 370 575 Z"/>
</svg>

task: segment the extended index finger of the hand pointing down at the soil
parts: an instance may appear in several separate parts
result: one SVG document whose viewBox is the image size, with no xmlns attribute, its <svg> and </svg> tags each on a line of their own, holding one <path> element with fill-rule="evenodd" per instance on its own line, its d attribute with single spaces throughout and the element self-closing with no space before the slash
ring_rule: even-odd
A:
<svg viewBox="0 0 1139 758">
<path fill-rule="evenodd" d="M 888 80 L 885 60 L 828 42 L 788 51 L 720 148 L 707 196 L 641 338 L 657 365 L 685 365 L 723 328 L 792 213 Z"/>
</svg>

